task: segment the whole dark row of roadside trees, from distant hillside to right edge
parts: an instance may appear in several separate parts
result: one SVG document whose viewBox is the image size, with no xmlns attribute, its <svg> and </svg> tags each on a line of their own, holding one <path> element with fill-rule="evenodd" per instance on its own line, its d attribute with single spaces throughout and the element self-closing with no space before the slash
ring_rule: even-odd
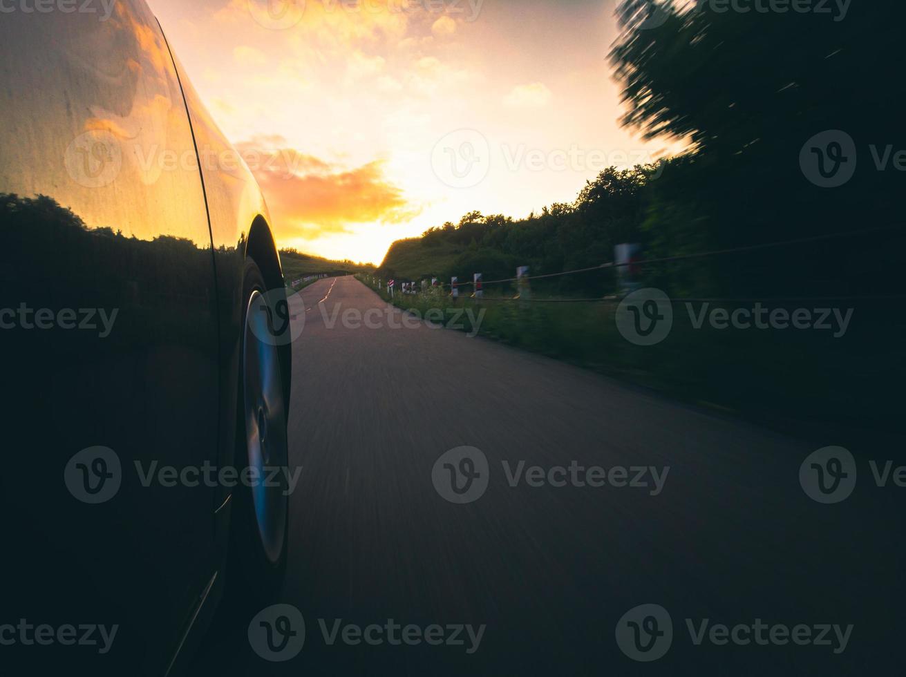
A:
<svg viewBox="0 0 906 677">
<path fill-rule="evenodd" d="M 803 240 L 645 266 L 642 275 L 673 294 L 899 290 L 906 134 L 891 67 L 902 8 L 853 4 L 841 18 L 711 5 L 627 0 L 612 46 L 622 124 L 644 138 L 684 140 L 684 153 L 658 167 L 606 169 L 573 203 L 525 219 L 469 213 L 395 243 L 381 272 L 510 278 L 517 265 L 545 274 L 610 262 L 618 243 L 661 258 Z M 834 169 L 834 157 L 852 177 L 816 183 L 814 171 Z M 554 280 L 545 284 L 563 293 L 615 285 L 606 272 Z"/>
</svg>

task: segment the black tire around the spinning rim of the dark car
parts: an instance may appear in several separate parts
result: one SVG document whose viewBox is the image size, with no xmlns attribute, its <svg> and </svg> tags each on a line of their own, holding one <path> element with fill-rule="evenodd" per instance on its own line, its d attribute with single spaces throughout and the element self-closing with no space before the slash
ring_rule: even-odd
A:
<svg viewBox="0 0 906 677">
<path fill-rule="evenodd" d="M 246 316 L 246 313 L 250 312 L 250 301 L 252 300 L 253 295 L 255 295 L 255 303 L 260 303 L 263 300 L 265 304 L 269 305 L 268 296 L 266 295 L 268 290 L 265 287 L 264 276 L 252 259 L 246 259 L 243 280 L 243 302 L 241 308 L 243 309 L 244 318 L 241 328 L 242 338 L 240 340 L 239 348 L 238 382 L 236 384 L 236 455 L 234 457 L 234 465 L 240 471 L 255 464 L 249 458 L 247 443 L 247 431 L 249 427 L 247 412 L 249 405 L 246 402 L 245 358 L 246 350 L 248 348 L 255 348 L 251 345 L 246 345 L 246 343 L 251 344 L 251 341 L 255 340 L 255 336 L 250 335 L 248 329 L 249 319 Z M 268 312 L 267 315 L 270 317 L 270 312 Z M 268 326 L 270 326 L 269 322 L 270 320 L 268 319 Z M 264 348 L 267 349 L 266 346 L 264 346 Z M 279 350 L 274 347 L 274 351 L 276 358 Z M 280 372 L 281 370 L 278 367 L 275 373 L 279 375 Z M 274 375 L 272 374 L 271 377 L 273 378 Z M 278 389 L 281 392 L 283 391 L 282 377 Z M 278 450 L 279 458 L 275 459 L 275 463 L 272 463 L 272 465 L 282 464 L 285 466 L 288 461 L 285 443 L 285 407 L 282 396 L 280 402 L 275 404 L 279 405 L 279 408 L 282 410 L 279 417 L 275 416 L 275 420 L 282 421 L 283 430 L 268 430 L 267 434 L 276 435 L 278 439 L 282 438 L 283 448 L 282 450 Z M 261 444 L 262 446 L 264 445 L 263 439 Z M 265 538 L 262 536 L 261 529 L 259 529 L 258 518 L 255 513 L 255 495 L 253 494 L 253 490 L 243 482 L 238 482 L 233 489 L 233 498 L 231 502 L 225 601 L 227 605 L 233 606 L 236 610 L 244 611 L 260 609 L 262 606 L 269 604 L 273 600 L 275 594 L 283 585 L 288 550 L 289 501 L 287 499 L 284 502 L 282 509 L 284 512 L 284 529 L 282 539 L 280 539 L 281 545 L 279 548 L 279 555 L 276 558 L 273 556 L 275 549 L 274 544 L 271 544 L 269 554 L 268 548 L 265 546 Z"/>
</svg>

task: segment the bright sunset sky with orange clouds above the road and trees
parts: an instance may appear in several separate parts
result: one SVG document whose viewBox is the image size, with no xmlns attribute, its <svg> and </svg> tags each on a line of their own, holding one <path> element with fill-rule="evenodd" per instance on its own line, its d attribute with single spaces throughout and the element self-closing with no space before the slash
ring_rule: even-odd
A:
<svg viewBox="0 0 906 677">
<path fill-rule="evenodd" d="M 612 0 L 149 0 L 281 248 L 380 263 L 472 211 L 662 157 L 622 129 Z"/>
</svg>

